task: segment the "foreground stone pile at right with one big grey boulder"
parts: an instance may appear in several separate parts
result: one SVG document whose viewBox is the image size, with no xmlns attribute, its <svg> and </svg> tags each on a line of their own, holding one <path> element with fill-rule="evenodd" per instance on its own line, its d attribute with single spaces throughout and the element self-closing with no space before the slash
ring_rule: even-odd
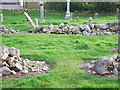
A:
<svg viewBox="0 0 120 90">
<path fill-rule="evenodd" d="M 97 60 L 90 61 L 83 65 L 88 73 L 95 75 L 120 75 L 120 55 L 113 55 L 109 57 L 101 57 Z"/>
</svg>

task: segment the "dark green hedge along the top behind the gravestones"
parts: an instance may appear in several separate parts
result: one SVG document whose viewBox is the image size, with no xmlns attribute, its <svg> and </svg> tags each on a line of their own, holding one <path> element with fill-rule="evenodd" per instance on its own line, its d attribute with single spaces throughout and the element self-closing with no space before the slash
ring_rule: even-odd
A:
<svg viewBox="0 0 120 90">
<path fill-rule="evenodd" d="M 45 10 L 66 11 L 67 2 L 44 2 Z M 120 2 L 71 2 L 71 11 L 78 12 L 116 12 L 120 8 Z M 24 8 L 39 9 L 37 2 L 25 2 Z"/>
</svg>

